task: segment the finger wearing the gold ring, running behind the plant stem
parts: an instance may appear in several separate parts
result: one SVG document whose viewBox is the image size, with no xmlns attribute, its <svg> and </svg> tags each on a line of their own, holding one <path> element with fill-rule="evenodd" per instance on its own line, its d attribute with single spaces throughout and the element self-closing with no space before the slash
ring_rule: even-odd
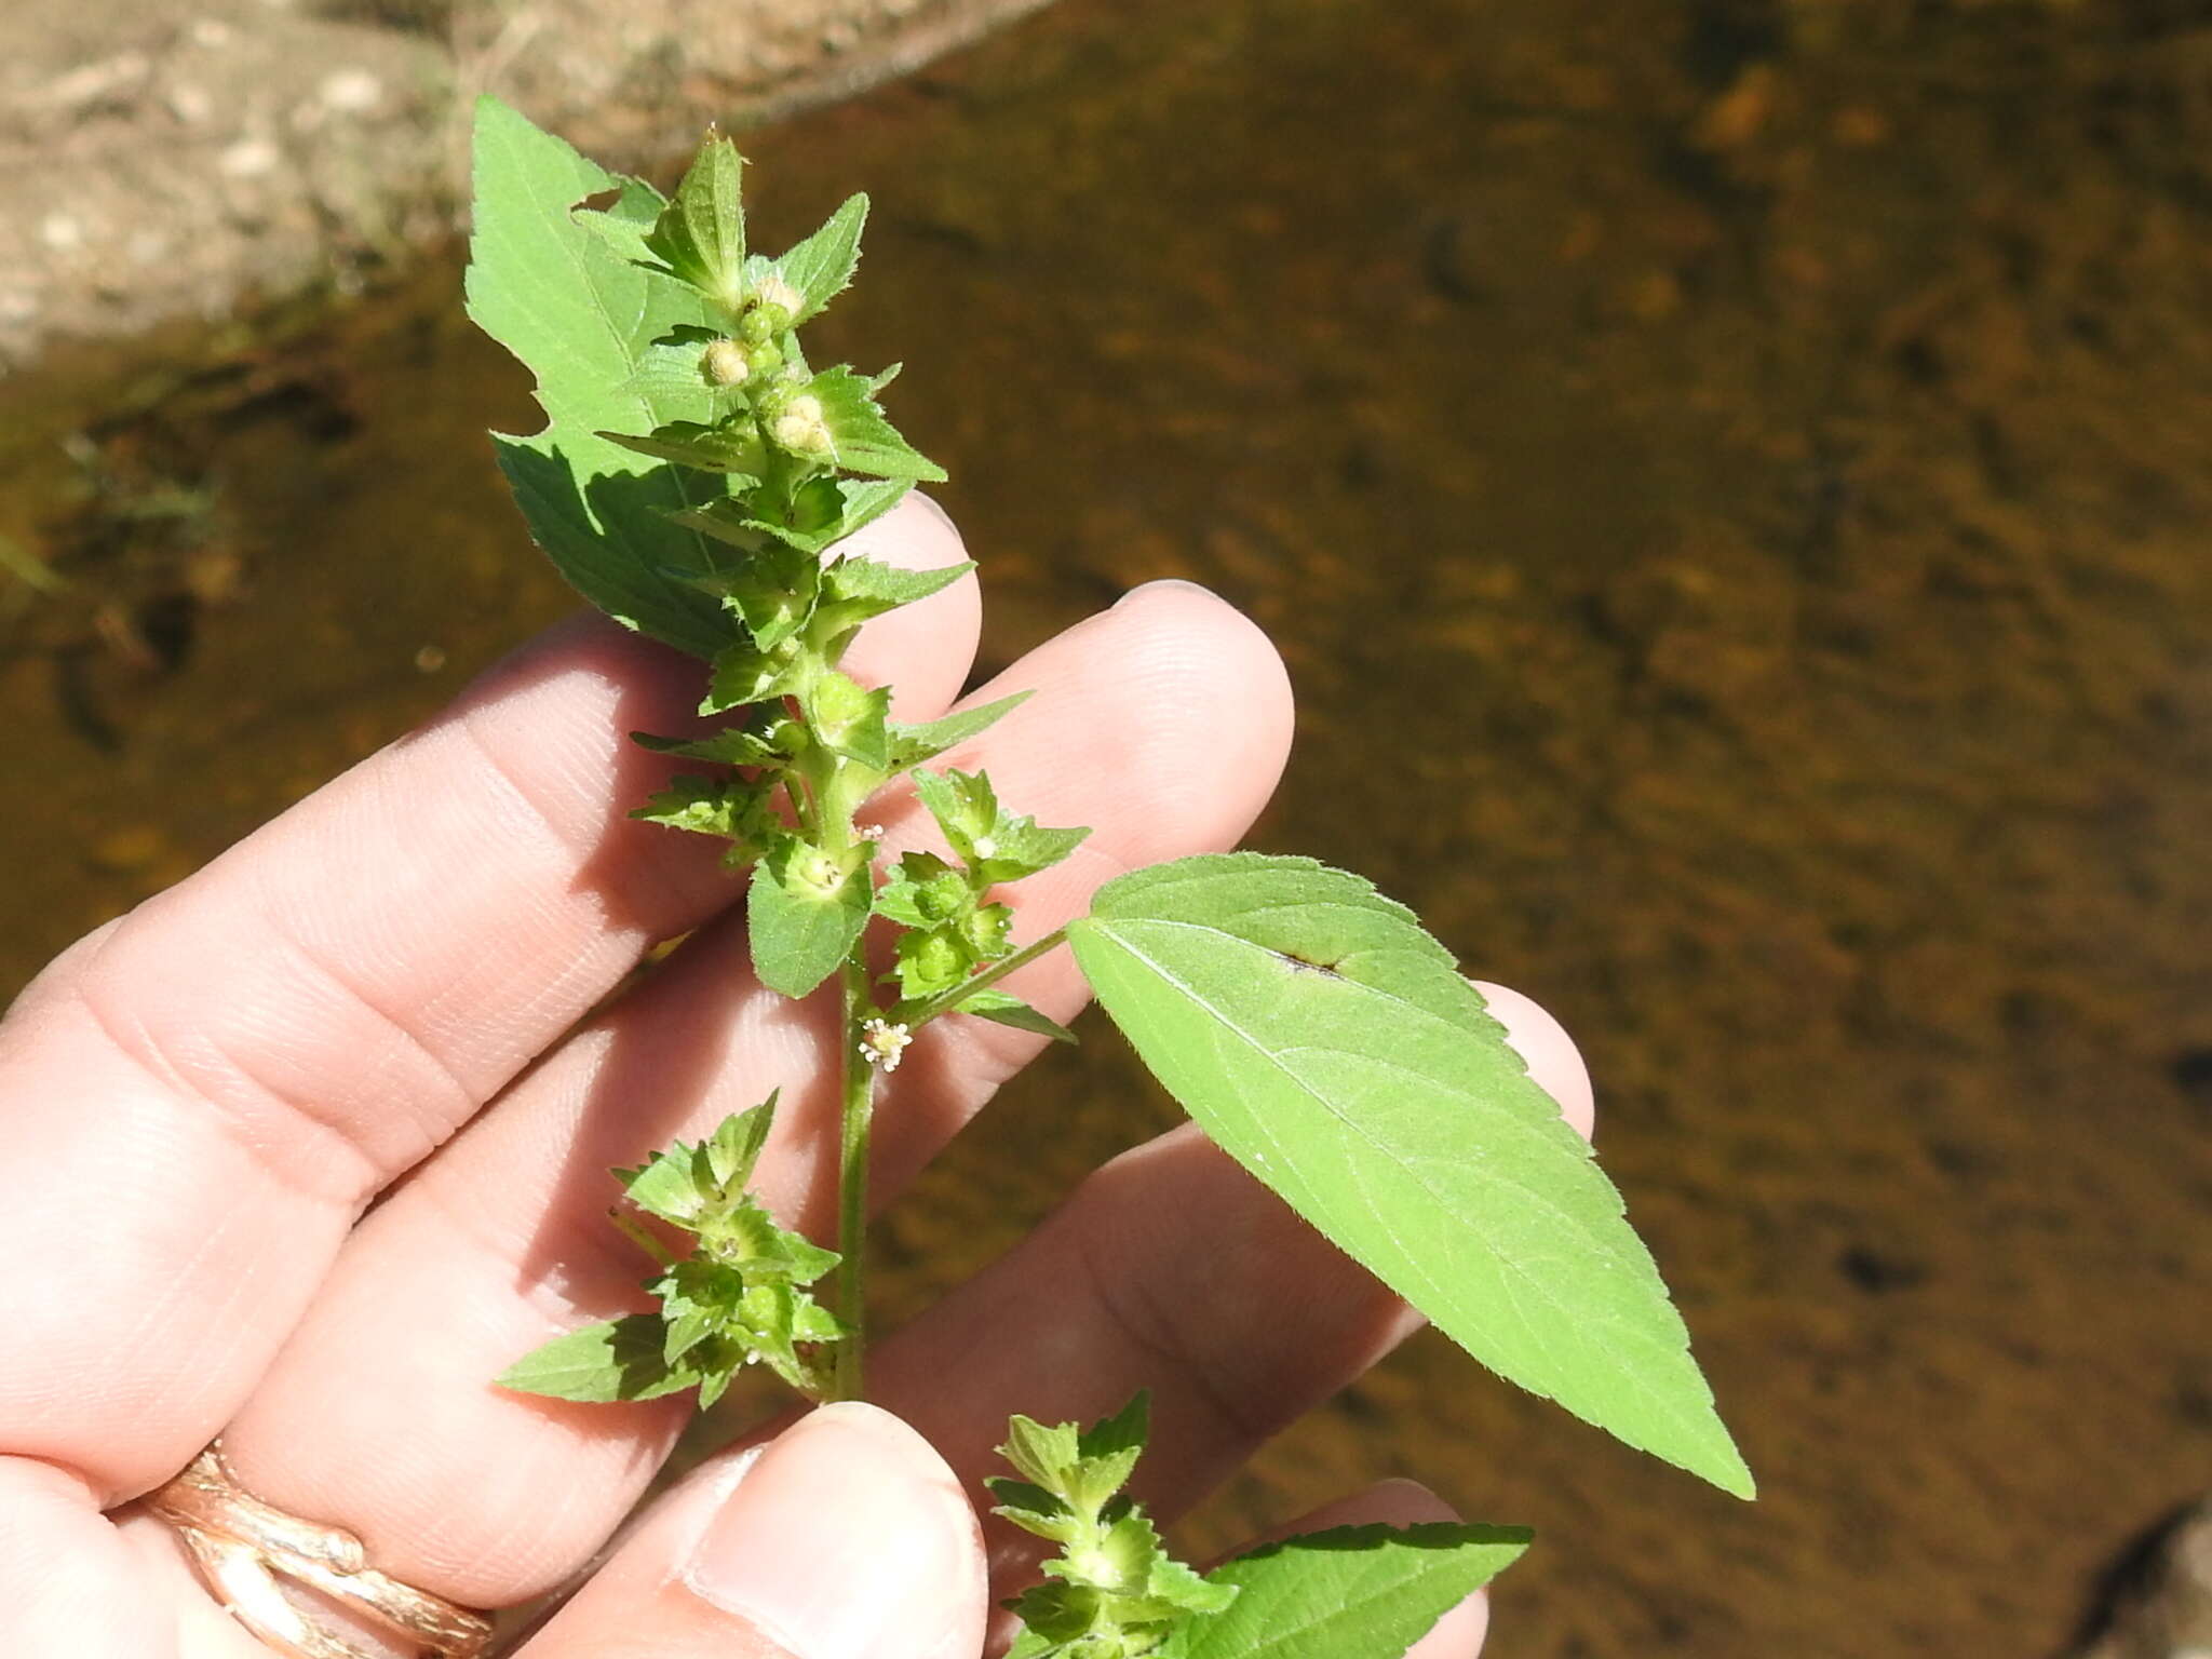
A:
<svg viewBox="0 0 2212 1659">
<path fill-rule="evenodd" d="M 1139 591 L 978 697 L 1015 688 L 1035 695 L 971 759 L 1044 823 L 1095 825 L 1073 874 L 1026 900 L 1031 927 L 1130 863 L 1234 843 L 1290 737 L 1272 648 L 1190 588 Z M 737 916 L 688 942 L 367 1217 L 223 1436 L 250 1489 L 343 1522 L 387 1573 L 478 1606 L 529 1599 L 597 1551 L 686 1405 L 564 1407 L 491 1378 L 639 1305 L 644 1259 L 606 1223 L 606 1170 L 781 1086 L 754 1188 L 787 1225 L 836 1232 L 836 1009 L 763 993 L 743 958 Z M 1068 971 L 1024 984 L 1073 1013 Z M 956 1024 L 925 1031 L 880 1088 L 878 1199 L 982 1106 L 1015 1042 L 1035 1048 Z"/>
</svg>

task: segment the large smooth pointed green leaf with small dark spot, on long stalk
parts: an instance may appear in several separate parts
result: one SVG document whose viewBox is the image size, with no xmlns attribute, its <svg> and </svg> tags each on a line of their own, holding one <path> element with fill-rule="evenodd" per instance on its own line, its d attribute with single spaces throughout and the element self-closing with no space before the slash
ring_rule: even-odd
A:
<svg viewBox="0 0 2212 1659">
<path fill-rule="evenodd" d="M 1214 854 L 1108 883 L 1068 940 L 1199 1126 L 1447 1336 L 1752 1495 L 1619 1194 L 1411 911 Z"/>
</svg>

